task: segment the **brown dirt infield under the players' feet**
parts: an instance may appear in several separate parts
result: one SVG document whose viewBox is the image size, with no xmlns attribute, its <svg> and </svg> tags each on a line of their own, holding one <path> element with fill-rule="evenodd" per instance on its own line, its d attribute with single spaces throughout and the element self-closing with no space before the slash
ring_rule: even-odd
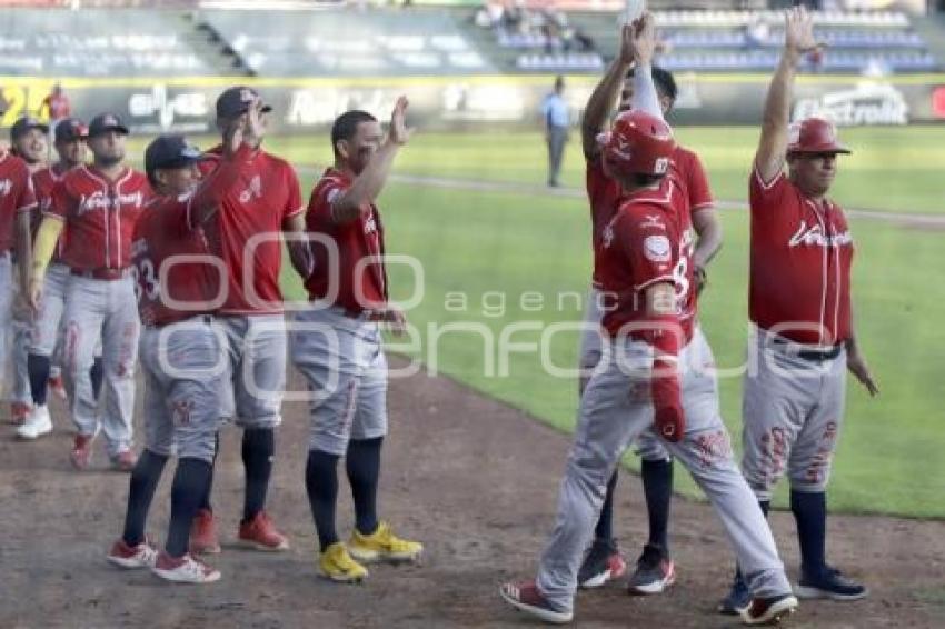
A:
<svg viewBox="0 0 945 629">
<path fill-rule="evenodd" d="M 291 378 L 300 388 L 298 376 Z M 106 562 L 121 529 L 128 477 L 98 471 L 105 466 L 101 443 L 97 471 L 71 470 L 61 406 L 53 409 L 51 437 L 18 443 L 8 430 L 0 440 L 0 627 L 534 626 L 501 603 L 497 588 L 535 569 L 553 525 L 567 437 L 450 380 L 424 375 L 395 382 L 390 407 L 381 515 L 422 540 L 426 557 L 418 567 L 374 568 L 362 586 L 337 586 L 316 576 L 302 481 L 308 420 L 301 405 L 286 406 L 269 501 L 291 551 L 266 555 L 228 543 L 242 505 L 242 466 L 239 433 L 227 429 L 215 489 L 223 553 L 211 561 L 223 578 L 206 587 L 170 586 Z M 165 476 L 148 528 L 157 539 L 168 519 L 170 475 Z M 341 496 L 344 535 L 351 522 L 347 487 Z M 619 497 L 617 530 L 623 547 L 635 555 L 645 530 L 635 477 L 624 477 Z M 776 512 L 773 522 L 794 576 L 792 517 Z M 629 598 L 619 585 L 583 593 L 579 626 L 736 626 L 713 613 L 732 559 L 710 509 L 677 499 L 672 530 L 677 586 L 649 599 Z M 872 596 L 856 603 L 803 603 L 789 626 L 945 627 L 945 522 L 835 517 L 829 555 L 865 579 Z"/>
</svg>

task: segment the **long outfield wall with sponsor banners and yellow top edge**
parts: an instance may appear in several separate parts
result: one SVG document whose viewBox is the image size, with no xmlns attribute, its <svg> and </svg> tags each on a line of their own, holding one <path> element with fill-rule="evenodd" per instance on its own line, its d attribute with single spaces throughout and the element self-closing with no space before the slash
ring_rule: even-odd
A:
<svg viewBox="0 0 945 629">
<path fill-rule="evenodd" d="M 152 79 L 73 79 L 62 84 L 81 117 L 112 111 L 135 132 L 203 132 L 212 123 L 217 94 L 233 83 L 256 87 L 272 104 L 273 132 L 324 129 L 348 109 L 366 109 L 386 118 L 398 94 L 407 93 L 417 124 L 428 129 L 536 128 L 541 98 L 554 77 L 477 76 L 378 79 L 249 79 L 200 77 Z M 576 123 L 596 77 L 567 79 L 566 97 Z M 676 124 L 757 124 L 766 74 L 677 73 Z M 52 87 L 50 79 L 0 78 L 6 103 L 2 127 L 24 113 L 38 114 Z M 945 74 L 889 79 L 802 77 L 795 116 L 820 113 L 837 123 L 908 124 L 945 121 Z"/>
</svg>

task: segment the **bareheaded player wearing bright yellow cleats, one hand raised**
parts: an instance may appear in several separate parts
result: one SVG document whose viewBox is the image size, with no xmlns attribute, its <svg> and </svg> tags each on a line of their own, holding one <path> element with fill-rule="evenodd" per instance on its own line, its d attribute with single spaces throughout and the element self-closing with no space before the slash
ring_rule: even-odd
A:
<svg viewBox="0 0 945 629">
<path fill-rule="evenodd" d="M 315 395 L 306 489 L 318 532 L 322 576 L 357 582 L 369 561 L 416 560 L 424 547 L 394 535 L 377 517 L 380 450 L 387 435 L 387 359 L 379 321 L 402 332 L 404 313 L 388 303 L 384 226 L 375 201 L 394 158 L 407 143 L 407 99 L 394 108 L 387 138 L 364 111 L 335 120 L 335 166 L 311 192 L 306 222 L 315 234 L 315 270 L 305 286 L 311 307 L 296 318 L 292 362 Z M 328 244 L 326 244 L 326 241 Z M 338 460 L 345 457 L 355 502 L 348 543 L 335 529 Z"/>
</svg>

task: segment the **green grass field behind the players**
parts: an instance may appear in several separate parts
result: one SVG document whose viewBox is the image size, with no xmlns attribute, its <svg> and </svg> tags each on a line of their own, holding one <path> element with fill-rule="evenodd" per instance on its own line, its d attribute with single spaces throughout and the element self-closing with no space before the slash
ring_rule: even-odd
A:
<svg viewBox="0 0 945 629">
<path fill-rule="evenodd" d="M 709 171 L 716 197 L 744 200 L 747 172 L 757 139 L 754 129 L 684 128 L 680 140 L 696 149 Z M 846 207 L 945 214 L 941 173 L 945 172 L 945 127 L 844 130 L 854 150 L 842 159 L 835 198 Z M 270 150 L 296 164 L 324 164 L 328 141 L 317 138 L 272 138 Z M 577 142 L 566 157 L 567 186 L 580 187 L 583 160 Z M 544 148 L 537 134 L 418 133 L 395 166 L 396 172 L 540 184 Z M 314 171 L 304 170 L 310 190 Z M 590 251 L 586 203 L 541 193 L 477 192 L 391 183 L 380 206 L 388 251 L 409 253 L 422 262 L 425 299 L 409 312 L 429 338 L 429 325 L 472 322 L 497 339 L 520 323 L 513 341 L 537 342 L 548 325 L 578 321 L 580 307 L 560 293 L 583 294 L 588 284 Z M 723 368 L 742 363 L 747 335 L 747 229 L 745 212 L 725 211 L 725 244 L 709 270 L 702 304 L 703 327 Z M 945 430 L 936 391 L 945 366 L 945 288 L 935 277 L 945 269 L 945 233 L 888 222 L 852 221 L 857 243 L 854 267 L 858 336 L 882 388 L 876 399 L 850 383 L 846 425 L 835 461 L 832 509 L 911 517 L 945 517 Z M 287 272 L 287 289 L 298 282 Z M 404 268 L 391 272 L 395 297 L 412 290 Z M 468 296 L 465 310 L 449 301 L 451 292 Z M 507 308 L 494 316 L 499 291 Z M 533 311 L 520 303 L 524 293 L 547 300 Z M 484 300 L 485 299 L 485 303 Z M 528 299 L 535 299 L 529 297 Z M 523 308 L 525 306 L 525 308 Z M 534 326 L 528 328 L 527 326 Z M 560 333 L 550 343 L 554 365 L 577 360 L 577 335 Z M 481 335 L 449 332 L 437 342 L 439 372 L 489 396 L 523 408 L 569 430 L 577 406 L 576 382 L 546 373 L 537 350 L 509 357 L 508 375 L 486 375 Z M 494 339 L 491 347 L 498 343 Z M 430 347 L 391 348 L 429 360 Z M 726 422 L 740 437 L 740 378 L 722 379 Z M 469 418 L 475 421 L 476 418 Z M 409 421 L 408 417 L 394 421 Z M 514 427 L 509 428 L 514 430 Z M 633 467 L 634 457 L 627 458 Z M 549 470 L 557 475 L 559 469 Z M 685 473 L 677 488 L 697 496 Z M 785 503 L 784 483 L 776 503 Z"/>
</svg>

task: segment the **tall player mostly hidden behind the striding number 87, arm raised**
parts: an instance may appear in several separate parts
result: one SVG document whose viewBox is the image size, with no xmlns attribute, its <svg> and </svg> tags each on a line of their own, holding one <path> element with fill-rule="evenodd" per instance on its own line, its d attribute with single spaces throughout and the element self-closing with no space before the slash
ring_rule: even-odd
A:
<svg viewBox="0 0 945 629">
<path fill-rule="evenodd" d="M 620 97 L 618 111 L 627 111 L 630 108 L 634 93 L 631 33 L 630 27 L 625 27 L 621 30 L 619 54 L 590 94 L 581 121 L 581 141 L 587 161 L 587 196 L 590 201 L 595 251 L 604 227 L 617 209 L 620 196 L 619 184 L 604 173 L 600 149 L 596 139 L 605 130 L 607 118 L 613 103 L 617 100 L 618 91 Z M 656 67 L 653 68 L 653 79 L 665 117 L 676 100 L 676 81 L 672 73 Z M 686 186 L 690 218 L 697 234 L 693 262 L 698 292 L 705 283 L 706 266 L 722 246 L 722 223 L 713 207 L 708 178 L 699 158 L 694 152 L 677 144 L 673 154 L 672 168 L 678 172 L 679 179 Z M 600 294 L 596 286 L 597 279 L 595 277 L 585 313 L 587 329 L 581 336 L 580 365 L 585 373 L 590 373 L 600 360 L 601 337 L 598 330 L 601 312 L 598 303 Z M 586 383 L 587 377 L 581 377 L 581 391 Z M 643 479 L 649 516 L 649 540 L 637 560 L 636 570 L 630 577 L 629 588 L 634 593 L 653 595 L 662 592 L 675 580 L 675 566 L 669 557 L 668 545 L 673 460 L 666 448 L 662 446 L 660 440 L 649 430 L 640 435 L 637 447 L 641 455 L 640 478 Z M 614 488 L 616 483 L 617 472 L 615 471 L 607 485 L 607 496 L 600 510 L 600 519 L 595 528 L 594 542 L 578 573 L 578 582 L 584 588 L 603 586 L 609 579 L 621 576 L 626 569 L 626 563 L 617 550 L 613 533 Z"/>
</svg>

